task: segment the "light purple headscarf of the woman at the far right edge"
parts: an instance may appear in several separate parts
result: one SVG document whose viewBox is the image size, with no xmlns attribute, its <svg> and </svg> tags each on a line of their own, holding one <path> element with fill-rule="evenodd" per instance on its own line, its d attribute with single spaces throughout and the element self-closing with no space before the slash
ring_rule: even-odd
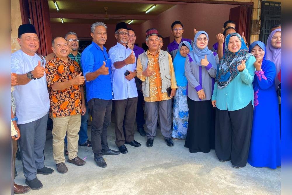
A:
<svg viewBox="0 0 292 195">
<path fill-rule="evenodd" d="M 272 41 L 274 34 L 277 31 L 281 32 L 281 29 L 275 29 L 269 35 L 268 40 L 267 40 L 267 49 L 266 49 L 266 53 L 267 53 L 266 59 L 275 63 L 276 75 L 278 75 L 279 71 L 281 70 L 281 48 L 273 47 L 271 44 L 271 41 Z M 278 80 L 277 77 L 275 78 L 275 83 L 276 83 L 276 87 L 280 83 L 280 81 Z"/>
</svg>

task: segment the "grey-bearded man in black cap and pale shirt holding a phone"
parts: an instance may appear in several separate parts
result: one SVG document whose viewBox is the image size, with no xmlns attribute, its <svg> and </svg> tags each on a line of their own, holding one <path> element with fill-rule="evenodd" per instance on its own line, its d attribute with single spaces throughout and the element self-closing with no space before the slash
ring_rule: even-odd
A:
<svg viewBox="0 0 292 195">
<path fill-rule="evenodd" d="M 128 45 L 129 32 L 125 22 L 117 24 L 114 33 L 117 45 L 109 49 L 112 61 L 116 145 L 123 154 L 128 153 L 125 144 L 141 146 L 134 140 L 134 123 L 138 93 L 135 84 L 136 57 Z M 124 130 L 123 130 L 124 125 Z M 124 134 L 125 132 L 125 134 Z"/>
</svg>

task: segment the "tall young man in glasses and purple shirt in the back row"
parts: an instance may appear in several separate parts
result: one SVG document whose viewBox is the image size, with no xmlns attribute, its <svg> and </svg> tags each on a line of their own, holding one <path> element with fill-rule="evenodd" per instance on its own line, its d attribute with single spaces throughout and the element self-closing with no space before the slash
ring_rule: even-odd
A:
<svg viewBox="0 0 292 195">
<path fill-rule="evenodd" d="M 187 41 L 189 42 L 192 47 L 194 46 L 194 42 L 190 39 L 183 38 L 183 24 L 180 21 L 174 21 L 171 24 L 171 31 L 174 37 L 173 42 L 169 43 L 167 46 L 167 52 L 171 55 L 171 58 L 175 57 L 176 53 L 178 52 L 178 45 L 182 41 Z"/>
</svg>

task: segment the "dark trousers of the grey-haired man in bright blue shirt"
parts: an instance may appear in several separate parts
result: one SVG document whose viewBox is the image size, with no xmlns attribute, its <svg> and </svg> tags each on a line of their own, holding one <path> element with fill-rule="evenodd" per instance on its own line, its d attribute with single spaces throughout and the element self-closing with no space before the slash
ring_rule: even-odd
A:
<svg viewBox="0 0 292 195">
<path fill-rule="evenodd" d="M 102 157 L 102 151 L 108 151 L 107 127 L 111 121 L 112 100 L 93 98 L 88 101 L 91 121 L 91 144 L 95 158 Z"/>
</svg>

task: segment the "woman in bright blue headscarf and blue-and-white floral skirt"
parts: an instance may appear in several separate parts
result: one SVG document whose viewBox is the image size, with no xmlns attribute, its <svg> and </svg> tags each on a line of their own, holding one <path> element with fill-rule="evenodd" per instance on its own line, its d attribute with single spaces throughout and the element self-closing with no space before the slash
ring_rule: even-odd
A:
<svg viewBox="0 0 292 195">
<path fill-rule="evenodd" d="M 189 109 L 187 107 L 187 78 L 185 77 L 185 59 L 192 51 L 191 44 L 183 41 L 178 46 L 178 52 L 173 59 L 173 69 L 175 73 L 178 89 L 173 100 L 173 139 L 185 139 L 187 135 L 187 125 Z"/>
</svg>

